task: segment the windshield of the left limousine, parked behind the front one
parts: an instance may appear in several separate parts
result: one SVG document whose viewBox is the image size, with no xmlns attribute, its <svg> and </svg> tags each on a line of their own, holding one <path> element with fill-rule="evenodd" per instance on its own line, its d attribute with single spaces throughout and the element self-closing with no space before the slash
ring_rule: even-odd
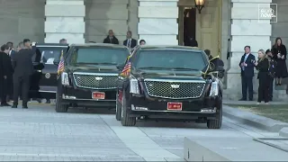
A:
<svg viewBox="0 0 288 162">
<path fill-rule="evenodd" d="M 70 64 L 121 64 L 129 55 L 128 49 L 78 48 L 72 52 Z"/>
</svg>

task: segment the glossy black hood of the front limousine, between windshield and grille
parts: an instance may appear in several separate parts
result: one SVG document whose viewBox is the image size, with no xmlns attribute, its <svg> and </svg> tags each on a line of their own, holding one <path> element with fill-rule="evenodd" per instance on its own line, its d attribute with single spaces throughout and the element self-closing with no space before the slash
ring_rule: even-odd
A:
<svg viewBox="0 0 288 162">
<path fill-rule="evenodd" d="M 142 79 L 203 80 L 202 71 L 197 70 L 135 70 L 131 74 Z"/>
</svg>

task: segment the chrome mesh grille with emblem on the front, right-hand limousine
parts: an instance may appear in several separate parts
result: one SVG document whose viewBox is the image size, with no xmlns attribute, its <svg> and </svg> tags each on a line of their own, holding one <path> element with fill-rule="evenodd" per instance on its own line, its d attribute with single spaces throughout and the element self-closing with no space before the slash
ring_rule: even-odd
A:
<svg viewBox="0 0 288 162">
<path fill-rule="evenodd" d="M 199 98 L 205 87 L 204 81 L 144 80 L 148 95 L 161 98 Z"/>
</svg>

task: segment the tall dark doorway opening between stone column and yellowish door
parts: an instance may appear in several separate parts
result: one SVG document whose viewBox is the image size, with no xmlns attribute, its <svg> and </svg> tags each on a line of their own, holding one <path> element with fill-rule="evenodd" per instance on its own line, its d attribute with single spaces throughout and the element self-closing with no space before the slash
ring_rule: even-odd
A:
<svg viewBox="0 0 288 162">
<path fill-rule="evenodd" d="M 183 42 L 184 46 L 195 46 L 196 38 L 196 9 L 184 7 L 183 10 Z M 198 43 L 197 43 L 198 46 Z"/>
</svg>

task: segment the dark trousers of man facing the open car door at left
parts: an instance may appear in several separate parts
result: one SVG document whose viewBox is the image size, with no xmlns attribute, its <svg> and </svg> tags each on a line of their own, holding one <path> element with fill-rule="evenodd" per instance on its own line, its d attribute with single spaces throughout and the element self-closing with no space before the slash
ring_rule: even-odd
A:
<svg viewBox="0 0 288 162">
<path fill-rule="evenodd" d="M 30 76 L 14 76 L 14 105 L 18 104 L 20 87 L 22 87 L 23 105 L 27 105 L 29 99 Z"/>
</svg>

